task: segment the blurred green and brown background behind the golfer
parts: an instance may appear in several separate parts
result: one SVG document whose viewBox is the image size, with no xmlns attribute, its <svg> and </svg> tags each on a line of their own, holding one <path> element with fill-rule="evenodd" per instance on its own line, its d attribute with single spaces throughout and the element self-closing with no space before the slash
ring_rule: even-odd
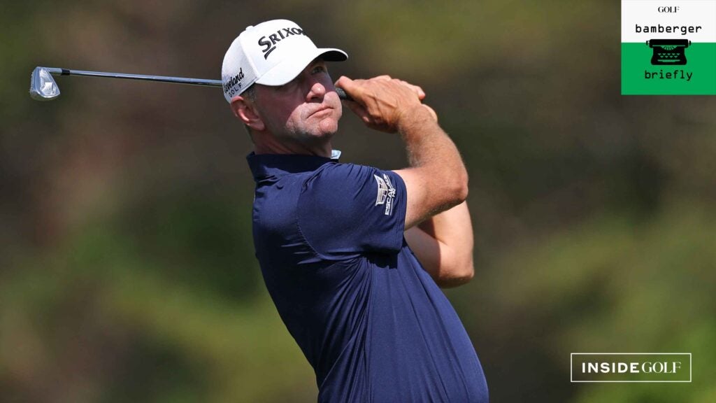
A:
<svg viewBox="0 0 716 403">
<path fill-rule="evenodd" d="M 473 281 L 446 291 L 492 402 L 716 402 L 716 98 L 624 97 L 618 1 L 0 1 L 0 402 L 311 402 L 253 257 L 244 27 L 415 82 L 463 153 Z M 716 74 L 716 73 L 715 73 Z M 342 160 L 400 140 L 347 110 Z M 691 352 L 690 384 L 571 384 L 571 352 Z"/>
</svg>

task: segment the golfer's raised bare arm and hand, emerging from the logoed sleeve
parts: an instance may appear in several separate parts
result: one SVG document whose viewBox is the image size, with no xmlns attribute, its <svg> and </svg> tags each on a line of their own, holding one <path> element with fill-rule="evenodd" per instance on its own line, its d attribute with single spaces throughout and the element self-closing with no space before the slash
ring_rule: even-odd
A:
<svg viewBox="0 0 716 403">
<path fill-rule="evenodd" d="M 347 105 L 368 127 L 400 133 L 405 141 L 410 167 L 395 171 L 407 189 L 405 229 L 465 201 L 467 170 L 435 112 L 420 102 L 420 87 L 387 76 L 341 77 L 336 85 L 355 100 Z"/>
</svg>

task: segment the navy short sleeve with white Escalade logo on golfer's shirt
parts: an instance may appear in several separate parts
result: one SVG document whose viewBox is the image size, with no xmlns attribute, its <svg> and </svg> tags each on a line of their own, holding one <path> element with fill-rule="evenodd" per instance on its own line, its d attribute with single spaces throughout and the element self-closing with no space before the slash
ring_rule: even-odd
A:
<svg viewBox="0 0 716 403">
<path fill-rule="evenodd" d="M 326 163 L 304 183 L 298 204 L 301 234 L 321 257 L 397 253 L 407 195 L 393 171 Z"/>
</svg>

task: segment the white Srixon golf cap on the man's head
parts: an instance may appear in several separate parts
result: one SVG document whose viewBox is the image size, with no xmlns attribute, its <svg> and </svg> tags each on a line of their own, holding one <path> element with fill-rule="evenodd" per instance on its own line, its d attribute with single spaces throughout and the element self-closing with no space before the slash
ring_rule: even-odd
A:
<svg viewBox="0 0 716 403">
<path fill-rule="evenodd" d="M 247 27 L 224 55 L 221 66 L 224 98 L 231 103 L 231 98 L 254 82 L 284 85 L 319 56 L 331 62 L 348 58 L 340 49 L 316 47 L 301 27 L 287 19 Z"/>
</svg>

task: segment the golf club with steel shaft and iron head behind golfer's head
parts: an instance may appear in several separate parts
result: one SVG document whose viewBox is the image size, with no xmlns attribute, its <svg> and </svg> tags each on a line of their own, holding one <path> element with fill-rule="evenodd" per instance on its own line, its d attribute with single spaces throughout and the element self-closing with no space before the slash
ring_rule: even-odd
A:
<svg viewBox="0 0 716 403">
<path fill-rule="evenodd" d="M 159 82 L 175 82 L 186 85 L 201 85 L 204 87 L 221 87 L 221 80 L 205 80 L 201 78 L 165 77 L 161 75 L 122 74 L 117 72 L 88 72 L 83 70 L 69 70 L 57 67 L 35 67 L 30 76 L 30 98 L 34 100 L 54 100 L 59 97 L 59 87 L 53 75 L 85 75 L 90 77 L 124 78 L 127 80 L 145 80 Z M 339 98 L 352 100 L 342 88 L 336 88 Z"/>
</svg>

